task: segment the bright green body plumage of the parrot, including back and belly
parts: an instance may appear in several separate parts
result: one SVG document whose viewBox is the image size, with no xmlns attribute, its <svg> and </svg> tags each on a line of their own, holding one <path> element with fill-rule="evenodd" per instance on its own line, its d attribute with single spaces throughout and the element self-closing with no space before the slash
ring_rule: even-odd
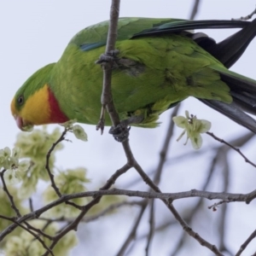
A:
<svg viewBox="0 0 256 256">
<path fill-rule="evenodd" d="M 211 55 L 208 46 L 203 49 L 192 32 L 185 31 L 191 25 L 204 28 L 205 24 L 207 21 L 119 19 L 115 46 L 119 60 L 113 67 L 112 93 L 120 119 L 143 115 L 143 122 L 136 125 L 154 127 L 160 113 L 189 96 L 228 104 L 233 101 L 232 84 L 222 78 L 222 74 L 230 74 L 225 63 L 212 56 L 212 48 L 209 48 Z M 226 21 L 220 27 L 243 27 L 246 23 L 234 24 Z M 102 67 L 95 61 L 105 51 L 107 36 L 108 21 L 85 28 L 70 41 L 61 59 L 51 64 L 47 74 L 49 88 L 68 119 L 86 124 L 97 124 L 99 120 Z M 207 45 L 212 42 L 210 38 L 202 38 Z M 46 76 L 44 68 L 35 75 Z M 236 73 L 235 76 L 246 79 Z M 44 83 L 34 84 L 34 80 L 27 80 L 17 95 L 27 88 L 31 91 L 44 86 Z M 108 118 L 106 124 L 111 125 Z"/>
</svg>

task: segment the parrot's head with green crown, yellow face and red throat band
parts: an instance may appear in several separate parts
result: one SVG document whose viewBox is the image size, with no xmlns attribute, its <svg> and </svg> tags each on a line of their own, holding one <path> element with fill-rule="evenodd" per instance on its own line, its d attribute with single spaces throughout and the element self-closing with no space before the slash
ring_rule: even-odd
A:
<svg viewBox="0 0 256 256">
<path fill-rule="evenodd" d="M 59 104 L 50 90 L 50 73 L 55 63 L 49 64 L 26 80 L 11 102 L 11 112 L 21 131 L 31 131 L 33 125 L 66 122 Z"/>
</svg>

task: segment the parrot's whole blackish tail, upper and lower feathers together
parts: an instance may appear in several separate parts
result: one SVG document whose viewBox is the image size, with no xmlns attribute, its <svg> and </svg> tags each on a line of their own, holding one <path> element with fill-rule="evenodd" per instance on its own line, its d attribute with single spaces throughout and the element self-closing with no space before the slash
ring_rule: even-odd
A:
<svg viewBox="0 0 256 256">
<path fill-rule="evenodd" d="M 230 38 L 204 48 L 218 59 L 218 61 L 221 61 L 225 67 L 230 68 L 239 60 L 255 36 L 256 19 L 239 32 L 230 36 Z M 256 133 L 256 121 L 247 115 L 247 113 L 256 115 L 256 81 L 237 77 L 236 75 L 232 75 L 232 73 L 220 73 L 220 76 L 230 86 L 230 94 L 233 96 L 234 102 L 227 104 L 205 99 L 200 99 L 200 101 Z"/>
</svg>

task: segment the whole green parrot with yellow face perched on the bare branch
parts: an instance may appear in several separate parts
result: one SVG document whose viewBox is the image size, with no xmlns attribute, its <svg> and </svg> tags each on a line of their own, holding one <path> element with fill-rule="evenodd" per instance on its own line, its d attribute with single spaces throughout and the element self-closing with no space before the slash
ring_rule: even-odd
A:
<svg viewBox="0 0 256 256">
<path fill-rule="evenodd" d="M 95 62 L 105 51 L 108 25 L 103 21 L 76 34 L 59 61 L 39 69 L 20 87 L 11 112 L 22 131 L 70 119 L 98 123 L 102 67 Z M 194 32 L 208 28 L 241 30 L 217 44 Z M 121 131 L 127 125 L 155 127 L 160 113 L 189 96 L 256 133 L 255 120 L 245 113 L 256 114 L 256 81 L 228 69 L 255 35 L 256 19 L 119 18 L 112 94 L 121 128 L 113 128 L 113 137 L 124 141 Z M 111 125 L 109 117 L 106 125 Z"/>
</svg>

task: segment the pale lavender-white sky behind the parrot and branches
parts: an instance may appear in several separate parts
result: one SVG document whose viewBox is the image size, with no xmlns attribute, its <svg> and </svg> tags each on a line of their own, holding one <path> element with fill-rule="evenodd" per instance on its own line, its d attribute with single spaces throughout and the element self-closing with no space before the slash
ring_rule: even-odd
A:
<svg viewBox="0 0 256 256">
<path fill-rule="evenodd" d="M 86 26 L 90 26 L 102 20 L 108 20 L 109 8 L 111 1 L 67 1 L 67 0 L 39 0 L 39 1 L 1 1 L 0 2 L 0 24 L 1 24 L 1 40 L 0 40 L 0 62 L 1 62 L 1 91 L 2 100 L 0 101 L 0 149 L 4 147 L 12 148 L 15 142 L 15 137 L 19 132 L 16 127 L 15 120 L 10 114 L 9 104 L 15 91 L 20 87 L 25 80 L 32 75 L 40 67 L 57 61 L 61 57 L 61 53 L 65 49 L 69 40 L 76 32 L 79 32 Z M 191 5 L 194 1 L 191 0 L 121 0 L 120 16 L 142 16 L 142 17 L 162 17 L 162 18 L 181 18 L 188 19 Z M 226 19 L 238 18 L 241 15 L 248 15 L 255 7 L 254 0 L 202 0 L 199 14 L 195 17 L 196 20 L 203 19 Z M 227 37 L 231 32 L 224 31 L 204 31 L 215 38 L 217 41 Z M 232 31 L 234 32 L 234 31 Z M 246 53 L 241 57 L 241 60 L 236 63 L 231 70 L 256 79 L 255 73 L 255 57 L 256 57 L 256 39 L 250 44 Z M 181 113 L 188 109 L 189 113 L 194 113 L 200 119 L 208 119 L 212 122 L 212 130 L 218 137 L 226 140 L 237 136 L 239 132 L 244 134 L 245 128 L 236 125 L 233 121 L 216 113 L 201 102 L 195 99 L 186 100 L 183 103 Z M 141 128 L 131 128 L 131 148 L 137 157 L 138 162 L 143 166 L 145 171 L 152 170 L 156 166 L 159 158 L 158 153 L 163 143 L 163 135 L 166 133 L 170 112 L 164 113 L 160 121 L 163 122 L 159 128 L 147 130 Z M 89 137 L 88 143 L 82 143 L 69 136 L 73 143 L 66 143 L 65 149 L 58 153 L 57 166 L 60 168 L 84 166 L 88 169 L 89 177 L 92 179 L 91 188 L 97 188 L 100 183 L 104 183 L 111 174 L 120 166 L 125 164 L 125 155 L 122 151 L 121 144 L 116 143 L 111 136 L 108 135 L 108 128 L 103 136 L 96 131 L 94 125 L 83 125 L 84 130 Z M 49 129 L 55 127 L 50 125 Z M 181 133 L 181 130 L 176 130 L 176 137 Z M 255 141 L 255 139 L 254 139 Z M 212 138 L 204 136 L 204 146 L 207 148 L 214 144 Z M 204 149 L 201 150 L 204 150 Z M 256 160 L 253 144 L 243 148 L 251 160 Z M 183 146 L 183 142 L 172 143 L 172 155 L 179 155 L 184 152 L 194 153 L 194 149 L 189 144 Z M 237 154 L 231 155 L 234 159 L 239 159 Z M 186 167 L 177 165 L 173 178 L 176 180 L 170 183 L 161 183 L 161 189 L 168 192 L 183 191 L 186 189 L 196 189 L 198 180 L 202 180 L 201 172 L 196 172 L 206 162 L 189 162 L 192 166 Z M 247 183 L 246 180 L 255 180 L 255 170 L 250 166 L 246 166 L 243 160 L 238 160 L 238 164 L 232 166 L 232 183 L 230 192 L 247 193 L 253 190 L 253 183 Z M 242 166 L 240 168 L 240 165 Z M 193 167 L 190 170 L 190 167 Z M 242 170 L 241 170 L 242 169 Z M 180 172 L 183 174 L 180 175 Z M 182 171 L 183 170 L 183 171 Z M 192 172 L 193 178 L 184 180 L 184 173 Z M 247 178 L 244 178 L 247 174 Z M 125 177 L 121 177 L 117 183 L 119 188 L 121 184 L 129 180 L 133 180 L 134 171 L 129 172 Z M 100 178 L 99 178 L 100 177 Z M 191 176 L 192 177 L 192 176 Z M 179 186 L 177 186 L 179 184 Z M 172 189 L 168 190 L 168 188 Z M 146 186 L 139 189 L 146 189 Z M 246 188 L 246 189 L 245 189 Z M 211 202 L 209 202 L 211 204 Z M 247 207 L 238 207 L 233 205 L 232 210 L 240 211 L 238 216 L 248 211 Z M 244 205 L 244 204 L 243 204 Z M 254 205 L 254 207 L 252 207 Z M 239 205 L 240 206 L 240 205 Z M 255 214 L 255 203 L 252 203 L 251 211 Z M 136 215 L 134 215 L 136 216 Z M 254 215 L 255 216 L 255 215 Z M 232 218 L 236 221 L 236 217 Z M 236 224 L 239 229 L 240 224 Z M 241 228 L 247 230 L 247 236 L 253 231 L 249 229 L 249 217 L 242 220 Z M 235 226 L 233 226 L 233 231 Z M 255 229 L 255 226 L 253 227 Z M 129 229 L 128 229 L 129 230 Z M 241 244 L 243 238 L 247 236 L 237 236 L 233 241 Z M 125 236 L 125 235 L 124 235 Z M 195 241 L 196 243 L 196 241 Z M 119 241 L 121 244 L 121 241 Z M 255 243 L 254 243 L 255 244 Z M 230 244 L 231 246 L 231 244 Z M 201 248 L 204 255 L 210 255 L 206 248 Z M 82 256 L 81 246 L 73 250 L 72 255 Z M 117 246 L 119 248 L 119 246 Z M 142 248 L 143 250 L 143 248 Z M 253 248 L 252 248 L 253 250 Z M 116 248 L 108 248 L 108 255 L 116 252 Z M 137 253 L 139 250 L 137 251 Z M 249 254 L 249 251 L 247 251 Z M 252 251 L 253 252 L 253 251 Z M 207 254 L 208 253 L 208 254 Z M 101 252 L 99 254 L 102 255 Z M 107 254 L 106 254 L 107 255 Z M 134 254 L 135 255 L 135 254 Z M 142 255 L 138 253 L 137 255 Z M 152 254 L 154 255 L 154 254 Z M 164 254 L 163 254 L 164 255 Z"/>
</svg>

